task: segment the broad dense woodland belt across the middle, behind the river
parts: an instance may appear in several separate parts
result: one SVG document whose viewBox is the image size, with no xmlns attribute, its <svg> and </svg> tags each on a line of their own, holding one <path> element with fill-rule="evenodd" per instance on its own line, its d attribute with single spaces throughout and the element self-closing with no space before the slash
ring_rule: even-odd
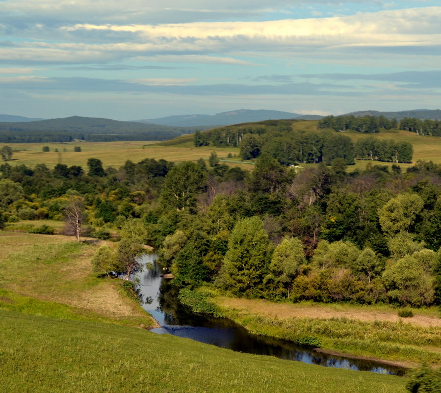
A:
<svg viewBox="0 0 441 393">
<path fill-rule="evenodd" d="M 261 153 L 251 173 L 215 154 L 179 164 L 127 161 L 104 168 L 1 165 L 2 225 L 67 220 L 107 238 L 98 270 L 136 270 L 141 244 L 158 250 L 178 286 L 210 283 L 268 299 L 441 303 L 441 167 L 369 162 L 350 171 L 342 158 L 295 173 Z M 51 228 L 37 229 L 51 233 Z M 66 233 L 74 234 L 75 225 Z"/>
</svg>

